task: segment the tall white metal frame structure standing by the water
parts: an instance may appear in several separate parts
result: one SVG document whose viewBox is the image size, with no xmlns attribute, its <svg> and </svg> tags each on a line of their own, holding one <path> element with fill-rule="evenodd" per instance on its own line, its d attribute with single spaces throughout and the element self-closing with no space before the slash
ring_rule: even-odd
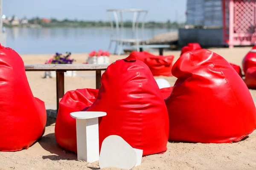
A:
<svg viewBox="0 0 256 170">
<path fill-rule="evenodd" d="M 115 25 L 111 17 L 111 13 L 113 14 Z M 123 23 L 124 13 L 133 13 L 131 37 L 125 36 L 125 28 Z M 139 51 L 139 43 L 144 38 L 145 17 L 148 14 L 148 11 L 144 9 L 108 9 L 107 14 L 111 25 L 111 40 L 109 43 L 108 51 L 110 51 L 111 49 L 112 42 L 116 42 L 114 54 L 116 54 L 117 45 L 119 45 L 117 54 L 120 55 L 123 45 L 132 43 L 136 44 L 135 46 L 137 48 L 137 51 Z M 139 35 L 140 16 L 143 17 L 143 20 L 141 22 L 141 39 Z"/>
</svg>

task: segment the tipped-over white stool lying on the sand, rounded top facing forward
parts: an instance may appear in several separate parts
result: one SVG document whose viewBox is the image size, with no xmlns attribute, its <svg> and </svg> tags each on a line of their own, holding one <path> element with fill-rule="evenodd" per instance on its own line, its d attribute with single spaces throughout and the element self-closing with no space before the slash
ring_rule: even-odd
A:
<svg viewBox="0 0 256 170">
<path fill-rule="evenodd" d="M 122 137 L 111 135 L 104 139 L 99 155 L 99 167 L 131 169 L 140 165 L 143 150 L 131 147 Z"/>
</svg>

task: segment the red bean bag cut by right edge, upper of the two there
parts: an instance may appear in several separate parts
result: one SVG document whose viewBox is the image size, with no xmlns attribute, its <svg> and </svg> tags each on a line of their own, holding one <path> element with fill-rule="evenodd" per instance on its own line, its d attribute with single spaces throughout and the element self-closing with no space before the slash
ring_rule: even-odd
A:
<svg viewBox="0 0 256 170">
<path fill-rule="evenodd" d="M 256 45 L 245 55 L 242 61 L 244 74 L 250 67 L 256 67 Z"/>
</svg>

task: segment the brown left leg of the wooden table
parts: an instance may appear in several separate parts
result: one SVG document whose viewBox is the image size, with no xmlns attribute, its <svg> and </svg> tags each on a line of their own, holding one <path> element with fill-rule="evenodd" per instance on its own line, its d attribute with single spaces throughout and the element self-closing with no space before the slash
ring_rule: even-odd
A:
<svg viewBox="0 0 256 170">
<path fill-rule="evenodd" d="M 64 96 L 64 72 L 56 71 L 56 102 L 57 102 L 57 113 L 59 107 L 59 99 Z"/>
</svg>

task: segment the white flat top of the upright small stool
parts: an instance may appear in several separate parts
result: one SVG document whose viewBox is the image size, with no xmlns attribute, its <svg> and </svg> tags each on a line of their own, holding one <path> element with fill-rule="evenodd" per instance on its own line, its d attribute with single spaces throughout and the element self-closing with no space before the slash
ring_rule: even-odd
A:
<svg viewBox="0 0 256 170">
<path fill-rule="evenodd" d="M 96 117 L 106 116 L 106 112 L 99 111 L 80 111 L 80 112 L 72 112 L 70 116 L 75 119 L 93 119 Z"/>
</svg>

